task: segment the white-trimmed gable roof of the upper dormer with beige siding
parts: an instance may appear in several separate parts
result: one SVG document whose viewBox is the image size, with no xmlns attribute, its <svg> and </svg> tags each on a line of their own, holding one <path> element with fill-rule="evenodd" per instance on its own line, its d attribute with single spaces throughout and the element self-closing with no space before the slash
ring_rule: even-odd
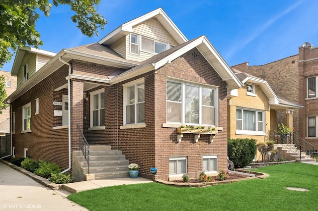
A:
<svg viewBox="0 0 318 211">
<path fill-rule="evenodd" d="M 109 46 L 110 44 L 114 43 L 120 38 L 132 33 L 134 26 L 154 17 L 157 18 L 161 25 L 169 32 L 169 34 L 178 44 L 188 41 L 186 37 L 182 34 L 182 32 L 178 29 L 178 27 L 176 27 L 176 25 L 171 21 L 171 19 L 160 7 L 154 11 L 151 11 L 145 15 L 142 15 L 127 23 L 124 23 L 123 25 L 119 26 L 114 31 L 106 35 L 100 41 L 98 41 L 98 43 L 101 45 Z"/>
</svg>

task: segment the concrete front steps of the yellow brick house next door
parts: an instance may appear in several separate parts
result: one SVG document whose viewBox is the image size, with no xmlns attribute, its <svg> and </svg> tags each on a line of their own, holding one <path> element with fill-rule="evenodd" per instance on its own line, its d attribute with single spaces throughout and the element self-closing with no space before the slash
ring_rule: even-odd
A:
<svg viewBox="0 0 318 211">
<path fill-rule="evenodd" d="M 296 160 L 296 162 L 310 163 L 316 159 L 310 158 L 305 152 L 300 154 L 294 144 L 275 144 L 275 149 L 278 150 L 278 159 L 285 158 L 287 160 Z"/>
</svg>

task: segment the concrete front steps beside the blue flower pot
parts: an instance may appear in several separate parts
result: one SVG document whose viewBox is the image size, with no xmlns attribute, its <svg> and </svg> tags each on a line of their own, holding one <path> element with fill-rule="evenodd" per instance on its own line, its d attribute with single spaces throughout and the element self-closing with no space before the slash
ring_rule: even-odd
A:
<svg viewBox="0 0 318 211">
<path fill-rule="evenodd" d="M 128 160 L 107 145 L 89 146 L 88 164 L 81 151 L 73 151 L 73 177 L 77 181 L 129 177 Z"/>
</svg>

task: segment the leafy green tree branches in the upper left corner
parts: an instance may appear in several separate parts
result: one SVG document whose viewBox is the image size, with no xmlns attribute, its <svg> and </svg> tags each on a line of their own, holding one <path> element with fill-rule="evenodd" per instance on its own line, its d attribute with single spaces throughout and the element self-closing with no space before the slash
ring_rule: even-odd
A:
<svg viewBox="0 0 318 211">
<path fill-rule="evenodd" d="M 107 21 L 97 13 L 100 0 L 0 0 L 0 67 L 12 58 L 18 47 L 43 45 L 35 29 L 39 18 L 37 11 L 50 16 L 52 4 L 68 4 L 76 14 L 71 19 L 77 23 L 83 35 L 98 36 L 98 28 L 104 29 Z"/>
</svg>

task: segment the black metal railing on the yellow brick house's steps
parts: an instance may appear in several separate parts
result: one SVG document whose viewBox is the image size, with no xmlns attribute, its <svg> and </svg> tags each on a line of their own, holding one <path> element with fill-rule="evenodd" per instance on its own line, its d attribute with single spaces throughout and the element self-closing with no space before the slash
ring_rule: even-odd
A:
<svg viewBox="0 0 318 211">
<path fill-rule="evenodd" d="M 305 152 L 306 155 L 309 155 L 311 157 L 314 156 L 315 146 L 304 140 L 294 132 L 290 134 L 281 134 L 277 130 L 271 130 L 268 131 L 268 140 L 274 140 L 275 144 L 286 144 L 285 147 L 288 150 L 295 154 L 299 153 L 300 159 L 302 159 L 302 152 Z M 295 146 L 297 150 L 295 150 L 293 146 Z"/>
</svg>

